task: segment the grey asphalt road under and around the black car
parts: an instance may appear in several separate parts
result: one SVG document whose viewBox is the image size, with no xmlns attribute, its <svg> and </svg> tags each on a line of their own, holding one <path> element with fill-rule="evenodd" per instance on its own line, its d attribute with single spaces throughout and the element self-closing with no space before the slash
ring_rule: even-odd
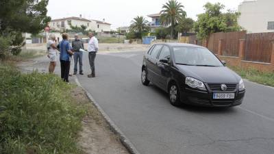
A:
<svg viewBox="0 0 274 154">
<path fill-rule="evenodd" d="M 240 107 L 173 107 L 162 90 L 142 86 L 143 53 L 98 54 L 92 79 L 84 55 L 85 75 L 77 75 L 140 153 L 274 153 L 274 88 L 245 81 Z"/>
</svg>

